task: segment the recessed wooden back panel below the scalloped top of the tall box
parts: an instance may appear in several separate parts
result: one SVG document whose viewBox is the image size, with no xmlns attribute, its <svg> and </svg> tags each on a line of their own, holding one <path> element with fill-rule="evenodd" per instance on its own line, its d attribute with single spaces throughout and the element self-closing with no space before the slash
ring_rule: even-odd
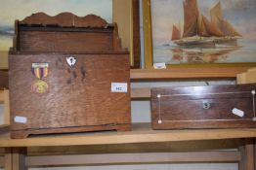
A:
<svg viewBox="0 0 256 170">
<path fill-rule="evenodd" d="M 98 32 L 75 28 L 23 29 L 20 31 L 20 51 L 113 51 L 113 45 L 109 43 L 112 42 L 111 29 Z"/>
</svg>

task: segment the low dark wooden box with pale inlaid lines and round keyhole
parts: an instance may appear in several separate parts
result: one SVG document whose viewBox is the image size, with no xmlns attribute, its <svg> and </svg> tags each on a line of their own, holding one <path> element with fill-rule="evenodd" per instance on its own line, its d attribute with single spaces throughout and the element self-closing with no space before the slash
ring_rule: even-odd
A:
<svg viewBox="0 0 256 170">
<path fill-rule="evenodd" d="M 151 89 L 153 129 L 256 127 L 256 84 Z"/>
</svg>

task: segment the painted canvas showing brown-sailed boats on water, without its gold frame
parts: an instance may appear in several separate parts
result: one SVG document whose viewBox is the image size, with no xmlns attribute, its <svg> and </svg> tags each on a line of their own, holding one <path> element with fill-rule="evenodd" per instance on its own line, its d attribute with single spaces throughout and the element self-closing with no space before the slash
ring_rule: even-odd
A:
<svg viewBox="0 0 256 170">
<path fill-rule="evenodd" d="M 255 0 L 151 0 L 153 62 L 256 62 Z"/>
</svg>

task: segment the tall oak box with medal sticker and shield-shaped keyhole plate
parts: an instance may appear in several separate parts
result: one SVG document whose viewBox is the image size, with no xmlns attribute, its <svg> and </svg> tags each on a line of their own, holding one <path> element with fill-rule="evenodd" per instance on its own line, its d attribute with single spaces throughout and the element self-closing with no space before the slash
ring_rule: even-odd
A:
<svg viewBox="0 0 256 170">
<path fill-rule="evenodd" d="M 47 22 L 54 18 L 49 17 Z M 93 20 L 97 22 L 97 18 Z M 31 49 L 22 47 L 25 43 L 21 43 L 10 51 L 12 138 L 29 134 L 130 130 L 129 52 L 121 50 L 118 35 L 114 33 L 116 27 L 60 25 L 21 23 L 24 34 L 34 33 L 36 26 L 35 30 L 46 31 L 46 36 L 53 33 L 66 36 L 66 40 L 53 38 L 50 43 L 53 49 L 43 51 L 40 47 L 47 42 L 34 44 Z M 72 38 L 72 33 L 78 38 Z M 98 33 L 104 36 L 97 36 Z M 100 41 L 106 34 L 111 42 Z M 99 38 L 99 44 L 91 41 L 94 35 Z M 38 39 L 40 42 L 42 37 L 42 34 L 29 35 L 22 41 Z M 86 37 L 89 42 L 83 41 Z M 18 40 L 21 41 L 21 35 Z M 87 46 L 90 43 L 92 49 Z M 69 46 L 68 51 L 61 45 Z"/>
</svg>

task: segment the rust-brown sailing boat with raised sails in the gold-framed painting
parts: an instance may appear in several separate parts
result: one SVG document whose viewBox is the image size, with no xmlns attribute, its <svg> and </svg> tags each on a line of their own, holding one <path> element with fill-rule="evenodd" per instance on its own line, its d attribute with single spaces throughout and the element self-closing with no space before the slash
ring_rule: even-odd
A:
<svg viewBox="0 0 256 170">
<path fill-rule="evenodd" d="M 173 25 L 172 41 L 184 47 L 215 47 L 216 44 L 234 44 L 241 35 L 224 19 L 220 2 L 210 10 L 211 20 L 199 14 L 197 0 L 185 0 L 184 31 Z"/>
</svg>

